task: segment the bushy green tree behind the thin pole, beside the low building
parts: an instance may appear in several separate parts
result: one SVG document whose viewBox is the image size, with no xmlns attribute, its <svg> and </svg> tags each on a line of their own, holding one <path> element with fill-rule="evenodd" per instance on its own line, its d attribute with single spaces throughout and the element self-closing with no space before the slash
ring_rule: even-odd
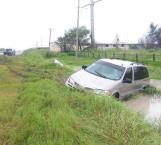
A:
<svg viewBox="0 0 161 145">
<path fill-rule="evenodd" d="M 63 37 L 58 37 L 57 42 L 61 44 L 69 44 L 74 46 L 76 44 L 76 32 L 77 28 L 69 29 L 65 31 Z M 82 43 L 88 43 L 90 31 L 82 26 L 79 28 L 79 47 L 81 47 Z"/>
</svg>

